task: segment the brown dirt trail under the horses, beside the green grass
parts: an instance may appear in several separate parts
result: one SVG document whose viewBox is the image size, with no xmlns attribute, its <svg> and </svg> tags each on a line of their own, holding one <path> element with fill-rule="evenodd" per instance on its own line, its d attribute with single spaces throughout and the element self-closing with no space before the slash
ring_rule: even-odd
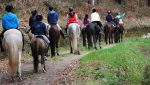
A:
<svg viewBox="0 0 150 85">
<path fill-rule="evenodd" d="M 111 46 L 105 46 L 104 48 L 109 47 Z M 79 59 L 88 53 L 89 52 L 82 52 L 81 55 L 69 54 L 66 55 L 66 57 L 46 61 L 46 73 L 42 73 L 41 66 L 39 66 L 39 73 L 33 73 L 32 59 L 22 61 L 23 81 L 11 82 L 9 77 L 10 75 L 8 73 L 3 72 L 0 73 L 0 85 L 60 85 L 60 83 L 62 85 L 62 83 L 65 83 L 66 81 L 66 76 L 77 65 L 79 65 Z M 3 63 L 7 63 L 7 61 Z M 64 85 L 66 85 L 66 83 Z"/>
</svg>

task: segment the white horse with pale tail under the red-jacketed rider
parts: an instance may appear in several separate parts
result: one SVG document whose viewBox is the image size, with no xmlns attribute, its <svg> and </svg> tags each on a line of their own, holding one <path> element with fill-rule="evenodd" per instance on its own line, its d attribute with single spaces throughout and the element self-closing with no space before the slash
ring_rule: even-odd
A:
<svg viewBox="0 0 150 85">
<path fill-rule="evenodd" d="M 71 23 L 68 26 L 67 33 L 69 35 L 70 53 L 80 55 L 79 39 L 80 39 L 80 27 L 76 23 Z"/>
</svg>

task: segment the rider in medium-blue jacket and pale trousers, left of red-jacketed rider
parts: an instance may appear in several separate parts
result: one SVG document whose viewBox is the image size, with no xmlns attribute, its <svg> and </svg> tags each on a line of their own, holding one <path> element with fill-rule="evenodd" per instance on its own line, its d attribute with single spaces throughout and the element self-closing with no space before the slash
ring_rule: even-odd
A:
<svg viewBox="0 0 150 85">
<path fill-rule="evenodd" d="M 60 34 L 62 35 L 62 37 L 65 39 L 64 33 L 61 29 L 61 27 L 58 25 L 58 13 L 56 11 L 54 11 L 53 6 L 49 6 L 49 10 L 50 12 L 48 13 L 47 16 L 47 21 L 51 26 L 55 26 L 57 25 L 57 27 L 60 30 Z"/>
</svg>

